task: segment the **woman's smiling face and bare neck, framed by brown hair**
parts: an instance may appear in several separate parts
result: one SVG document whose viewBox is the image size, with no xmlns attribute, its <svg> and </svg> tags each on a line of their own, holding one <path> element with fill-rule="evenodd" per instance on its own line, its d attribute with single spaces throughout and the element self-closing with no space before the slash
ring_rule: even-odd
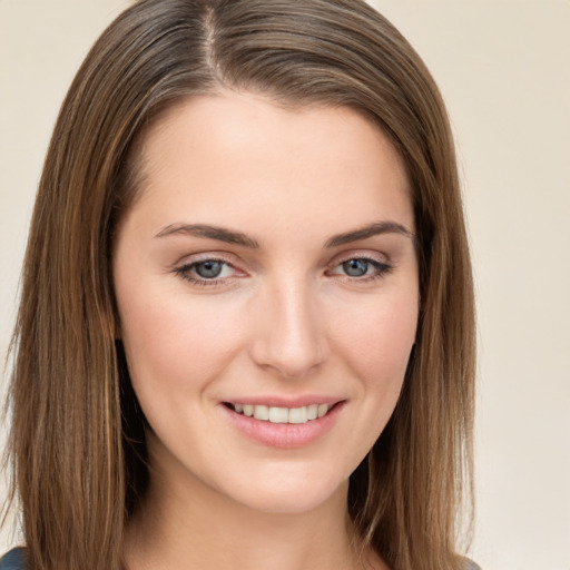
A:
<svg viewBox="0 0 570 570">
<path fill-rule="evenodd" d="M 177 105 L 141 148 L 114 257 L 150 425 L 129 568 L 385 569 L 346 495 L 415 338 L 401 159 L 353 110 L 243 92 Z"/>
</svg>

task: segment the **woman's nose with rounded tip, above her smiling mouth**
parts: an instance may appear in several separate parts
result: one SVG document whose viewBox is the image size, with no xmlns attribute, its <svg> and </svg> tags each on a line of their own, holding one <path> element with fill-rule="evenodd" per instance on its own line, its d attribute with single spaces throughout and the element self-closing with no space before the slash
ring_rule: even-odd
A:
<svg viewBox="0 0 570 570">
<path fill-rule="evenodd" d="M 325 318 L 315 295 L 303 283 L 289 282 L 259 292 L 255 320 L 250 354 L 258 366 L 282 377 L 299 379 L 326 361 Z"/>
</svg>

